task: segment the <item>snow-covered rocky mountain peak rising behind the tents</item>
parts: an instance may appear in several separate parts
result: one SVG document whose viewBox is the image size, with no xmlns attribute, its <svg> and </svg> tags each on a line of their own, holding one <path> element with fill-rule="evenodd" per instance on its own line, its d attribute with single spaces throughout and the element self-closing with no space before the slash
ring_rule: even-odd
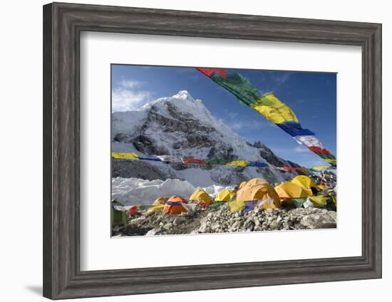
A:
<svg viewBox="0 0 392 302">
<path fill-rule="evenodd" d="M 112 151 L 139 156 L 174 155 L 182 158 L 251 160 L 275 166 L 296 164 L 274 155 L 262 142 L 250 143 L 217 120 L 202 103 L 183 90 L 158 98 L 139 110 L 112 114 Z M 258 167 L 185 165 L 145 160 L 113 160 L 112 177 L 181 179 L 194 186 L 235 185 L 253 177 L 282 182 L 296 172 Z"/>
</svg>

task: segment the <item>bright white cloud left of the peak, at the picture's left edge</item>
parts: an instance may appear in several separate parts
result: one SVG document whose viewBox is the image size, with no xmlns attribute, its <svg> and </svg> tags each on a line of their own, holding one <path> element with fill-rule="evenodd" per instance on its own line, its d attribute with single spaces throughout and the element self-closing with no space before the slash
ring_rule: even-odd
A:
<svg viewBox="0 0 392 302">
<path fill-rule="evenodd" d="M 145 90 L 136 90 L 143 82 L 135 80 L 120 80 L 112 91 L 112 113 L 129 111 L 140 108 L 151 99 L 152 93 Z"/>
</svg>

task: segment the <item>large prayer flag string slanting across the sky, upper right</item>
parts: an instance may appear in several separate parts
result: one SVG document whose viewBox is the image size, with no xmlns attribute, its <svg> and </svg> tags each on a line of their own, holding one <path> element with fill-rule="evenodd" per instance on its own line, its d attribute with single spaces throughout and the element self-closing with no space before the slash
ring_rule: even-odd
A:
<svg viewBox="0 0 392 302">
<path fill-rule="evenodd" d="M 330 165 L 336 167 L 336 158 L 331 152 L 324 149 L 321 142 L 314 136 L 314 132 L 301 127 L 298 118 L 289 106 L 282 103 L 273 93 L 262 93 L 239 73 L 227 73 L 222 68 L 196 68 L 197 71 L 207 75 L 218 85 L 229 90 L 239 102 L 248 105 L 265 118 L 280 127 L 284 132 L 294 137 L 296 142 L 309 148 Z"/>
</svg>

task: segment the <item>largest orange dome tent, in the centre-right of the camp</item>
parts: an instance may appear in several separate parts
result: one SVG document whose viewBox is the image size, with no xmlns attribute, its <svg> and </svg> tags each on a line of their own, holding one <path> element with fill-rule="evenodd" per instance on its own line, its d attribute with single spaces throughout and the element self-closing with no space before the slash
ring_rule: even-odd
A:
<svg viewBox="0 0 392 302">
<path fill-rule="evenodd" d="M 249 184 L 249 182 L 237 192 L 237 202 L 250 202 L 253 200 L 272 199 L 272 203 L 263 204 L 262 207 L 280 207 L 279 195 L 274 188 L 267 183 Z"/>
</svg>

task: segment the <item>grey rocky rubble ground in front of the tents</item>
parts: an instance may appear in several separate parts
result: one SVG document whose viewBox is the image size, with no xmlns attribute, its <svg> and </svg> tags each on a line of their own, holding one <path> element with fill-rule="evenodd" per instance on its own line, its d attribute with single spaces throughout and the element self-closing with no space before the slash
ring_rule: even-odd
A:
<svg viewBox="0 0 392 302">
<path fill-rule="evenodd" d="M 336 212 L 321 208 L 253 209 L 232 214 L 227 204 L 217 209 L 195 207 L 187 213 L 138 214 L 128 225 L 115 227 L 113 236 L 205 234 L 241 231 L 336 228 Z"/>
</svg>

